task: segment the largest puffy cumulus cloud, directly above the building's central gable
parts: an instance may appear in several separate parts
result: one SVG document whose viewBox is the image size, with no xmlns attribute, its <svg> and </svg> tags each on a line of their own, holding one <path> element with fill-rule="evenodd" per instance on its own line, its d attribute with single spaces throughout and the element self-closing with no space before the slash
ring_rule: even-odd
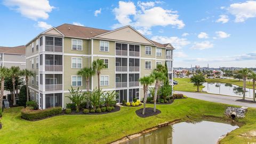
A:
<svg viewBox="0 0 256 144">
<path fill-rule="evenodd" d="M 181 29 L 185 26 L 179 19 L 177 11 L 165 10 L 155 6 L 156 2 L 138 2 L 137 6 L 133 2 L 119 1 L 118 7 L 113 10 L 115 19 L 118 21 L 113 28 L 131 25 L 142 32 L 150 35 L 151 27 L 154 26 L 173 26 Z"/>
</svg>

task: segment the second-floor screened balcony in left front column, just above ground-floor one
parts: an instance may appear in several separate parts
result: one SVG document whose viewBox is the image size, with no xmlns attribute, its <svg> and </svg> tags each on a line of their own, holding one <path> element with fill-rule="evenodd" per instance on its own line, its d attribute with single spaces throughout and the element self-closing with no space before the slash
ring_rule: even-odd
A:
<svg viewBox="0 0 256 144">
<path fill-rule="evenodd" d="M 61 91 L 62 74 L 45 74 L 45 91 Z"/>
</svg>

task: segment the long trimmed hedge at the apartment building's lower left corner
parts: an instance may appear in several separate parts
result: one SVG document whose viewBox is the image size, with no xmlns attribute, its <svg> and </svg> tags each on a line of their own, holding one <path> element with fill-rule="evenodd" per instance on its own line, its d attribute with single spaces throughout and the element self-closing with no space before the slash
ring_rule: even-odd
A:
<svg viewBox="0 0 256 144">
<path fill-rule="evenodd" d="M 33 107 L 21 109 L 21 117 L 27 120 L 41 119 L 62 113 L 61 107 L 47 108 L 43 110 L 33 110 Z"/>
</svg>

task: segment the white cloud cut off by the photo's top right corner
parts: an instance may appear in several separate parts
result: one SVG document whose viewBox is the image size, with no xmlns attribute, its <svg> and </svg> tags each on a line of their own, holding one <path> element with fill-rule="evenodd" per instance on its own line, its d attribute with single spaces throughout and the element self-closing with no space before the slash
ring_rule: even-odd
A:
<svg viewBox="0 0 256 144">
<path fill-rule="evenodd" d="M 236 17 L 235 22 L 244 22 L 249 18 L 256 17 L 256 1 L 234 3 L 231 4 L 227 10 Z"/>
</svg>

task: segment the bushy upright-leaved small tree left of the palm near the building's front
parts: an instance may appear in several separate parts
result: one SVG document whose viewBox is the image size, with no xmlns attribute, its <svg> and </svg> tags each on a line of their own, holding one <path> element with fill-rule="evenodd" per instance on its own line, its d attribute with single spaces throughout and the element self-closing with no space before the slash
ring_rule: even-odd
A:
<svg viewBox="0 0 256 144">
<path fill-rule="evenodd" d="M 82 93 L 82 90 L 79 90 L 79 87 L 77 90 L 74 90 L 71 86 L 71 90 L 68 90 L 70 95 L 67 96 L 73 103 L 76 105 L 76 111 L 78 112 L 80 109 L 80 105 L 84 100 L 84 93 Z"/>
</svg>

